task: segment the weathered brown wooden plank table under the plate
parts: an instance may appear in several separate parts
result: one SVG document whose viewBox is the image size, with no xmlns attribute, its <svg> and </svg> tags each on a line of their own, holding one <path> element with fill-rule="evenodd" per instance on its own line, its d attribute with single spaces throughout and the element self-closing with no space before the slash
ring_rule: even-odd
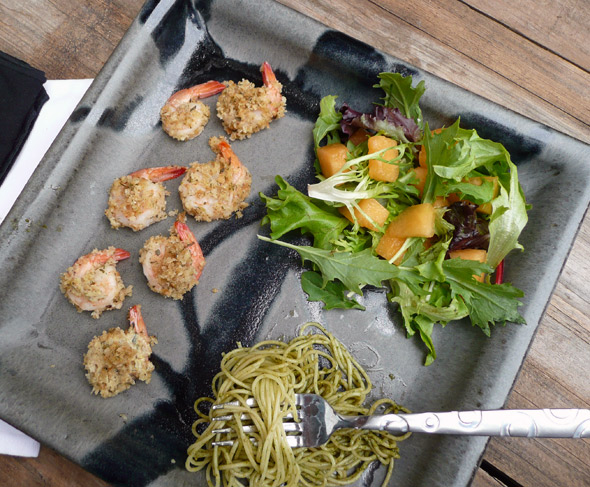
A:
<svg viewBox="0 0 590 487">
<path fill-rule="evenodd" d="M 281 2 L 590 143 L 587 1 Z M 142 5 L 143 0 L 3 0 L 0 50 L 45 71 L 49 79 L 94 77 Z M 567 204 L 567 195 L 557 197 Z M 581 227 L 508 407 L 590 407 L 588 255 L 590 217 Z M 14 486 L 105 485 L 46 447 L 36 459 L 0 456 L 2 484 L 3 479 Z M 589 486 L 590 441 L 493 439 L 473 485 Z"/>
</svg>

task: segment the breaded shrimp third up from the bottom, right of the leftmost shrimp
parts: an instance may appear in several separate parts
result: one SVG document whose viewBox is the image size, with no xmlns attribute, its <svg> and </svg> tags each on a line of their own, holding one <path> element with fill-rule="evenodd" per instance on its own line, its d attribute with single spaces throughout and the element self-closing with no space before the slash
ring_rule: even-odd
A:
<svg viewBox="0 0 590 487">
<path fill-rule="evenodd" d="M 184 213 L 170 229 L 170 237 L 156 235 L 139 251 L 139 262 L 149 288 L 172 299 L 182 296 L 198 284 L 205 257 L 186 224 Z"/>
</svg>

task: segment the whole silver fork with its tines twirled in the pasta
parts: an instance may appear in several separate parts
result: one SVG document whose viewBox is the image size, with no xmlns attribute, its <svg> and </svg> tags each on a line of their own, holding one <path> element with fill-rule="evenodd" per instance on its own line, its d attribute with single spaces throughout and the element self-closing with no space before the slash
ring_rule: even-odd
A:
<svg viewBox="0 0 590 487">
<path fill-rule="evenodd" d="M 316 394 L 296 394 L 299 421 L 286 417 L 283 427 L 292 448 L 317 447 L 326 443 L 334 431 L 343 428 L 386 431 L 394 435 L 430 433 L 469 436 L 524 436 L 528 438 L 590 438 L 590 409 L 497 409 L 437 413 L 342 416 Z M 229 404 L 229 403 L 228 403 Z M 254 400 L 248 400 L 255 406 Z M 223 409 L 225 404 L 213 406 Z M 228 420 L 220 416 L 215 420 Z M 243 415 L 247 419 L 247 415 Z M 231 433 L 231 428 L 215 430 Z M 247 434 L 255 432 L 244 426 Z M 232 440 L 214 442 L 231 445 Z"/>
</svg>

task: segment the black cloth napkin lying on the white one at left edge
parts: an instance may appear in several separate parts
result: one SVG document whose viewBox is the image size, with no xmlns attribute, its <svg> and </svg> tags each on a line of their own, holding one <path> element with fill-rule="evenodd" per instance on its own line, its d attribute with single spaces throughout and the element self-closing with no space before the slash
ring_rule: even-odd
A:
<svg viewBox="0 0 590 487">
<path fill-rule="evenodd" d="M 0 51 L 0 184 L 49 99 L 45 73 Z"/>
</svg>

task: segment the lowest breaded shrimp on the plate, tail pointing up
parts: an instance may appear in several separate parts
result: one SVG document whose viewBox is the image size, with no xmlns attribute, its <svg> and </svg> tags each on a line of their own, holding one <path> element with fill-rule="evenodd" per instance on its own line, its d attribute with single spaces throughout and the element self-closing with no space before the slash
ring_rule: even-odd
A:
<svg viewBox="0 0 590 487">
<path fill-rule="evenodd" d="M 127 331 L 111 328 L 88 344 L 84 367 L 94 394 L 113 397 L 136 380 L 149 384 L 152 378 L 154 364 L 149 359 L 158 340 L 148 335 L 139 304 L 129 310 L 129 323 Z"/>
</svg>

